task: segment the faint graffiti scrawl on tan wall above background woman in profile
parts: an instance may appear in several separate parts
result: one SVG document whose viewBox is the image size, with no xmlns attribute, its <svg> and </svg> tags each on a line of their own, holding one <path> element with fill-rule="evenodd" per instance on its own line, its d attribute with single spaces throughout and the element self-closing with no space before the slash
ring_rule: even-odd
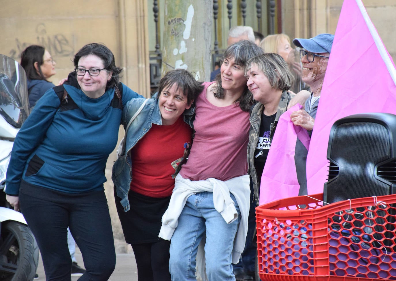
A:
<svg viewBox="0 0 396 281">
<path fill-rule="evenodd" d="M 35 33 L 37 36 L 34 42 L 24 42 L 21 38 L 15 38 L 15 47 L 10 50 L 9 56 L 19 60 L 23 50 L 32 44 L 43 46 L 52 57 L 70 57 L 74 55 L 74 49 L 70 43 L 72 40 L 69 40 L 64 34 L 50 34 L 47 32 L 44 23 L 36 26 Z"/>
</svg>

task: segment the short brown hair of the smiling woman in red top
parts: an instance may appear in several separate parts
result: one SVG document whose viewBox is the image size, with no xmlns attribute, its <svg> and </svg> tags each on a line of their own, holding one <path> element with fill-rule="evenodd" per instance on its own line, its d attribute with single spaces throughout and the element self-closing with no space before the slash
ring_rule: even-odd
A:
<svg viewBox="0 0 396 281">
<path fill-rule="evenodd" d="M 171 87 L 173 84 L 176 84 L 177 90 L 181 90 L 187 97 L 188 105 L 204 90 L 202 83 L 195 80 L 191 73 L 185 69 L 178 68 L 168 71 L 160 80 L 158 84 L 158 96 L 160 96 L 162 90 Z"/>
</svg>

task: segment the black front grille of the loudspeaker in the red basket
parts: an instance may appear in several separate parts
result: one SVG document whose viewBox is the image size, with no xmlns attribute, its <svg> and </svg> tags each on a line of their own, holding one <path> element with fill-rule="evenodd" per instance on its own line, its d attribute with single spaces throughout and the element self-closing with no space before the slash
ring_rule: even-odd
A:
<svg viewBox="0 0 396 281">
<path fill-rule="evenodd" d="M 329 182 L 325 186 L 328 203 L 390 193 L 389 184 L 375 178 L 377 164 L 393 160 L 389 132 L 382 124 L 339 124 L 334 128 L 328 156 Z"/>
</svg>

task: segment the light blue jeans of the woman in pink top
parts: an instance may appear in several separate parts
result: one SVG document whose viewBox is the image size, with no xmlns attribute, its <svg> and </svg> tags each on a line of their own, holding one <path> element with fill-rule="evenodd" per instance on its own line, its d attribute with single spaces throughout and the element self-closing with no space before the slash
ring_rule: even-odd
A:
<svg viewBox="0 0 396 281">
<path fill-rule="evenodd" d="M 206 191 L 188 197 L 171 239 L 169 271 L 172 280 L 196 280 L 195 258 L 204 234 L 208 279 L 235 280 L 231 252 L 241 215 L 235 197 L 230 196 L 238 212 L 238 218 L 230 224 L 215 210 L 213 193 Z"/>
</svg>

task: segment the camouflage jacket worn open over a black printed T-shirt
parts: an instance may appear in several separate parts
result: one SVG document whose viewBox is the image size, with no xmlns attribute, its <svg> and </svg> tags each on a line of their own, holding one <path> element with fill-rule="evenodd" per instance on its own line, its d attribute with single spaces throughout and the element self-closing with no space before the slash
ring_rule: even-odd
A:
<svg viewBox="0 0 396 281">
<path fill-rule="evenodd" d="M 286 107 L 291 100 L 291 94 L 283 91 L 279 101 L 278 111 L 276 112 L 275 121 L 271 123 L 270 128 L 270 141 L 274 137 L 276 125 L 278 124 L 280 116 L 286 111 Z M 257 147 L 257 141 L 259 140 L 261 116 L 263 114 L 264 105 L 262 103 L 256 103 L 250 110 L 250 130 L 249 130 L 249 144 L 247 145 L 247 162 L 249 163 L 248 173 L 251 176 L 254 199 L 256 204 L 259 205 L 259 187 L 260 183 L 257 179 L 256 169 L 254 168 L 254 155 Z"/>
</svg>

